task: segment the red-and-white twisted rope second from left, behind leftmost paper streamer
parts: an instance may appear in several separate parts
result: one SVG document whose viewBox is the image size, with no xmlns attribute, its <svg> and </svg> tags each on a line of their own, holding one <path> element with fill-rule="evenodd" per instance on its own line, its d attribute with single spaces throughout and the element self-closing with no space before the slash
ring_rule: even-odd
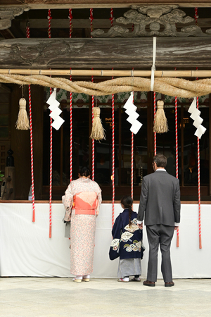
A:
<svg viewBox="0 0 211 317">
<path fill-rule="evenodd" d="M 48 13 L 49 19 L 49 38 L 51 38 L 51 10 Z M 52 94 L 52 88 L 50 88 L 50 94 Z M 52 227 L 52 154 L 53 154 L 53 132 L 52 132 L 52 118 L 50 117 L 50 183 L 49 183 L 49 238 L 51 238 Z"/>
</svg>

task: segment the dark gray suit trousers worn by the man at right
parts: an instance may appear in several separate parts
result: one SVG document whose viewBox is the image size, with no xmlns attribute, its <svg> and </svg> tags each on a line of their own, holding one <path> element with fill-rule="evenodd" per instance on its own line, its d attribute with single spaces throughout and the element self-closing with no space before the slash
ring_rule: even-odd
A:
<svg viewBox="0 0 211 317">
<path fill-rule="evenodd" d="M 146 225 L 149 244 L 147 280 L 157 281 L 158 247 L 162 254 L 161 272 L 164 282 L 172 281 L 172 264 L 170 246 L 174 235 L 174 227 L 169 225 Z"/>
</svg>

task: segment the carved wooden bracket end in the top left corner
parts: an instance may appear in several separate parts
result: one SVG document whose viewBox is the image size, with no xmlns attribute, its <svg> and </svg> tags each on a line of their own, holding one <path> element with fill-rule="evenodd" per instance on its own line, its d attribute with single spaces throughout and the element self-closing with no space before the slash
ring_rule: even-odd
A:
<svg viewBox="0 0 211 317">
<path fill-rule="evenodd" d="M 21 15 L 24 11 L 29 11 L 30 8 L 20 6 L 14 8 L 0 8 L 0 30 L 6 30 L 11 27 L 11 20 L 15 18 L 15 16 Z"/>
</svg>

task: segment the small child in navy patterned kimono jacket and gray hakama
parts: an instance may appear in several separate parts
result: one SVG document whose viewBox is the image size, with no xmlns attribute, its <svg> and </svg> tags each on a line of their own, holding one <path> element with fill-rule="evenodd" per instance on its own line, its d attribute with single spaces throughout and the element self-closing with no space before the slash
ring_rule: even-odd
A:
<svg viewBox="0 0 211 317">
<path fill-rule="evenodd" d="M 137 213 L 132 211 L 133 200 L 130 196 L 124 196 L 121 206 L 124 211 L 116 218 L 113 225 L 113 242 L 110 247 L 110 259 L 120 256 L 117 276 L 118 282 L 132 280 L 140 282 L 141 259 L 144 247 L 142 244 L 142 230 L 137 226 Z"/>
</svg>

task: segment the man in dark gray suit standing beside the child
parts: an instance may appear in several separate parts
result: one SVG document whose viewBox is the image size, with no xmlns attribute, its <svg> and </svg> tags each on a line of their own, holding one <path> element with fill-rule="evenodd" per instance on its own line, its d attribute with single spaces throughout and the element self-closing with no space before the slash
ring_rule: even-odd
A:
<svg viewBox="0 0 211 317">
<path fill-rule="evenodd" d="M 166 287 L 174 286 L 172 281 L 172 265 L 170 246 L 174 230 L 180 221 L 180 189 L 179 180 L 167 173 L 167 158 L 162 154 L 153 157 L 154 173 L 143 178 L 141 198 L 138 212 L 140 229 L 146 225 L 149 244 L 146 286 L 155 286 L 158 273 L 158 247 L 162 254 L 161 271 Z"/>
</svg>

